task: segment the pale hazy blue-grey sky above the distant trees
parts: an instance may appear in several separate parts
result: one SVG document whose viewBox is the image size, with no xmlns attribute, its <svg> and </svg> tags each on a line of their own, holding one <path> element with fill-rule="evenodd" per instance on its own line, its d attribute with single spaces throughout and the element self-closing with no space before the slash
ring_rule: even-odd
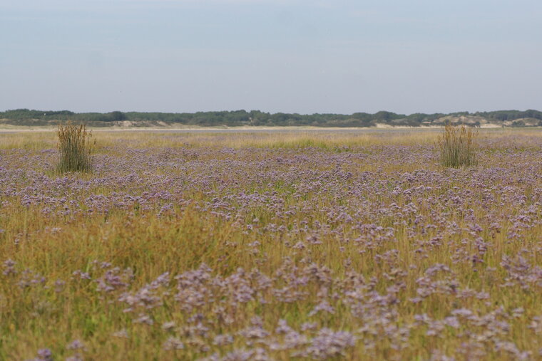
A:
<svg viewBox="0 0 542 361">
<path fill-rule="evenodd" d="M 541 0 L 0 0 L 0 110 L 542 110 Z"/>
</svg>

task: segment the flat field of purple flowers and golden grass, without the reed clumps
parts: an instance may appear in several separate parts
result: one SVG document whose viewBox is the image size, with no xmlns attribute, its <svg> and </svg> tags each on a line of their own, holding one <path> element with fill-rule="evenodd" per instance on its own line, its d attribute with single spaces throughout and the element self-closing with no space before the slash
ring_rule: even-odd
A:
<svg viewBox="0 0 542 361">
<path fill-rule="evenodd" d="M 0 134 L 0 360 L 542 357 L 540 129 L 93 135 Z"/>
</svg>

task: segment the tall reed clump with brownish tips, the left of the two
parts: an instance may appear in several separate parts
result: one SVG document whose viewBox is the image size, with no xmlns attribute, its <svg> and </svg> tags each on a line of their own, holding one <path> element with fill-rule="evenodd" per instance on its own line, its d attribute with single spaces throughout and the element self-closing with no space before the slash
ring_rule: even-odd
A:
<svg viewBox="0 0 542 361">
<path fill-rule="evenodd" d="M 86 130 L 86 125 L 68 121 L 66 125 L 58 125 L 56 135 L 60 152 L 58 172 L 91 172 L 91 155 L 96 142 L 91 142 L 92 132 Z"/>
</svg>

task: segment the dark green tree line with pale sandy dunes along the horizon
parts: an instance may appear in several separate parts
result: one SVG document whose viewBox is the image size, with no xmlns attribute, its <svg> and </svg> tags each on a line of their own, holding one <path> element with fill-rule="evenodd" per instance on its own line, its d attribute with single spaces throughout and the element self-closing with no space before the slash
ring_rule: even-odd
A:
<svg viewBox="0 0 542 361">
<path fill-rule="evenodd" d="M 16 109 L 0 112 L 0 120 L 8 120 L 11 124 L 19 125 L 51 125 L 66 120 L 86 122 L 88 125 L 108 126 L 111 122 L 130 120 L 133 125 L 144 125 L 148 122 L 165 122 L 166 124 L 179 123 L 200 127 L 208 126 L 292 126 L 305 125 L 316 127 L 370 127 L 377 123 L 389 125 L 421 126 L 431 125 L 445 117 L 483 117 L 489 122 L 511 122 L 512 125 L 521 126 L 523 119 L 539 120 L 542 125 L 542 112 L 538 110 L 498 110 L 494 112 L 458 112 L 458 113 L 414 113 L 411 115 L 397 114 L 381 111 L 378 113 L 344 114 L 311 114 L 297 113 L 265 113 L 259 110 L 234 110 L 219 112 L 198 113 L 140 113 L 120 112 L 111 113 L 73 113 L 69 110 L 29 110 Z M 517 120 L 517 121 L 516 121 Z M 532 122 L 531 122 L 532 123 Z M 524 124 L 523 124 L 524 125 Z"/>
</svg>

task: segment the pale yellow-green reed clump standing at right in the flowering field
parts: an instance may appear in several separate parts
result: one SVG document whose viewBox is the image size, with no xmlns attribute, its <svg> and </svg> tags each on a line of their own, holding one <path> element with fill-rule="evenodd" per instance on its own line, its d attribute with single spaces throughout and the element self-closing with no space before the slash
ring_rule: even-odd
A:
<svg viewBox="0 0 542 361">
<path fill-rule="evenodd" d="M 476 165 L 477 135 L 475 130 L 465 125 L 446 124 L 439 136 L 442 165 L 452 168 Z"/>
</svg>

